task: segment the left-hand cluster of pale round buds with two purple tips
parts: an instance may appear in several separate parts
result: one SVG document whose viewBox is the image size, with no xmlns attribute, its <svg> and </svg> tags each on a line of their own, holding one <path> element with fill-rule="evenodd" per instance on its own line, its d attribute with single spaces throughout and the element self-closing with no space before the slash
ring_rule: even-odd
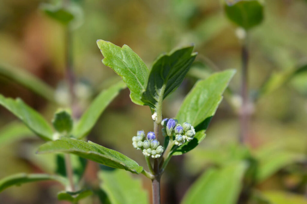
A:
<svg viewBox="0 0 307 204">
<path fill-rule="evenodd" d="M 161 157 L 164 149 L 159 145 L 159 141 L 156 139 L 154 132 L 148 132 L 145 137 L 144 131 L 138 131 L 137 136 L 132 137 L 132 145 L 138 150 L 142 150 L 145 156 L 151 156 L 152 158 Z"/>
</svg>

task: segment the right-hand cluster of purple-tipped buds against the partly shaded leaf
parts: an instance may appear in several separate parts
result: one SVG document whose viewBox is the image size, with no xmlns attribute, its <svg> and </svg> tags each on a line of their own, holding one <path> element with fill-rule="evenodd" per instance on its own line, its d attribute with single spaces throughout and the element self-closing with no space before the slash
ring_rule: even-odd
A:
<svg viewBox="0 0 307 204">
<path fill-rule="evenodd" d="M 175 136 L 175 145 L 182 145 L 186 141 L 191 141 L 196 134 L 194 127 L 184 122 L 182 125 L 178 124 L 178 121 L 175 119 L 168 119 L 164 118 L 161 122 L 162 128 L 162 135 L 163 136 Z"/>
</svg>

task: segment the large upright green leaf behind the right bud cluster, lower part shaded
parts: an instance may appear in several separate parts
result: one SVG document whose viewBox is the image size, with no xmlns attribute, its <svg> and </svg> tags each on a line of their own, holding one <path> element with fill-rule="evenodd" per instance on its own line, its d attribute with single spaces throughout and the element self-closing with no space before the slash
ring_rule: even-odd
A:
<svg viewBox="0 0 307 204">
<path fill-rule="evenodd" d="M 192 141 L 173 150 L 173 155 L 184 154 L 194 149 L 204 138 L 204 131 L 220 105 L 222 94 L 228 86 L 235 70 L 212 74 L 207 79 L 198 81 L 185 97 L 176 119 L 180 124 L 188 122 L 194 126 L 196 135 Z"/>
</svg>

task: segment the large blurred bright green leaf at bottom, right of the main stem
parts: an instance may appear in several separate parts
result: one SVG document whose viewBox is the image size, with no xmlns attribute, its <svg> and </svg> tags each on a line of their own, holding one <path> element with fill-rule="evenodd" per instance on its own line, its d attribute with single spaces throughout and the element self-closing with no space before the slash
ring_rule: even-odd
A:
<svg viewBox="0 0 307 204">
<path fill-rule="evenodd" d="M 235 204 L 247 169 L 245 162 L 235 162 L 221 169 L 211 168 L 189 188 L 182 204 Z"/>
</svg>

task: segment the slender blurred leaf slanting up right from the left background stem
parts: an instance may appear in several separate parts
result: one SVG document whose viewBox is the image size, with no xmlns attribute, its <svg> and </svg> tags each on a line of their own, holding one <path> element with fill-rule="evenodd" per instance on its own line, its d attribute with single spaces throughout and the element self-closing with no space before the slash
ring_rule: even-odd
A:
<svg viewBox="0 0 307 204">
<path fill-rule="evenodd" d="M 120 81 L 108 89 L 103 90 L 82 115 L 80 121 L 73 130 L 73 135 L 79 139 L 86 136 L 91 128 L 94 127 L 103 110 L 119 94 L 119 91 L 125 87 L 125 83 Z"/>
</svg>

